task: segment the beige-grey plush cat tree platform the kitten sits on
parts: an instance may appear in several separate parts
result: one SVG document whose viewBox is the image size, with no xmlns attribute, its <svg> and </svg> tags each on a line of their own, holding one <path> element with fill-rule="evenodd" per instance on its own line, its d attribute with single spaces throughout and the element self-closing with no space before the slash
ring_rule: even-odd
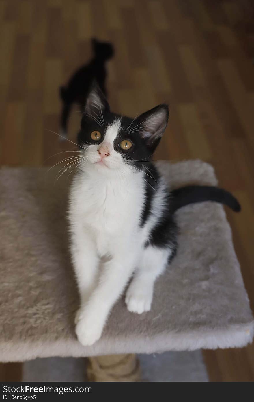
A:
<svg viewBox="0 0 254 402">
<path fill-rule="evenodd" d="M 160 163 L 172 188 L 216 185 L 199 160 Z M 0 361 L 242 347 L 254 322 L 232 234 L 221 205 L 177 212 L 179 250 L 156 282 L 152 310 L 128 312 L 122 297 L 102 338 L 83 347 L 75 336 L 79 299 L 70 264 L 67 189 L 59 168 L 0 170 Z M 63 179 L 63 180 L 62 180 Z M 103 302 L 103 301 L 102 301 Z"/>
</svg>

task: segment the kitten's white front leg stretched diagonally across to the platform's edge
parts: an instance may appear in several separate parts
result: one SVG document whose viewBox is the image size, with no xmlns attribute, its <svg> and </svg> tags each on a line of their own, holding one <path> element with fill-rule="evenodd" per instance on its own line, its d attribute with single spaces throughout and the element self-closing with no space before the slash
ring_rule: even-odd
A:
<svg viewBox="0 0 254 402">
<path fill-rule="evenodd" d="M 124 260 L 125 258 L 125 260 Z M 92 345 L 102 334 L 108 314 L 134 269 L 134 258 L 120 253 L 103 266 L 99 284 L 80 314 L 76 334 L 82 345 Z"/>
</svg>

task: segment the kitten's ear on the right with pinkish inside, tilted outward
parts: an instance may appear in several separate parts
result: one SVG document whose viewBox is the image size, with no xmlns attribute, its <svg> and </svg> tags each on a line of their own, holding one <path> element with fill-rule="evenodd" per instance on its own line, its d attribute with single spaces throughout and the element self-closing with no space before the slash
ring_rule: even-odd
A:
<svg viewBox="0 0 254 402">
<path fill-rule="evenodd" d="M 146 140 L 147 145 L 155 150 L 167 126 L 169 107 L 165 103 L 142 113 L 137 120 L 140 124 L 140 136 Z"/>
</svg>

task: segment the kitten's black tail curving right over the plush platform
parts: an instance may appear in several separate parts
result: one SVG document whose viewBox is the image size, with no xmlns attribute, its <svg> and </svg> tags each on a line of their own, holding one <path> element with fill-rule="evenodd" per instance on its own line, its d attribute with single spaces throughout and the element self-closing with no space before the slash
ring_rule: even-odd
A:
<svg viewBox="0 0 254 402">
<path fill-rule="evenodd" d="M 212 186 L 186 186 L 175 189 L 171 192 L 171 212 L 185 205 L 194 204 L 203 201 L 215 201 L 228 205 L 233 211 L 239 212 L 241 205 L 228 191 Z"/>
</svg>

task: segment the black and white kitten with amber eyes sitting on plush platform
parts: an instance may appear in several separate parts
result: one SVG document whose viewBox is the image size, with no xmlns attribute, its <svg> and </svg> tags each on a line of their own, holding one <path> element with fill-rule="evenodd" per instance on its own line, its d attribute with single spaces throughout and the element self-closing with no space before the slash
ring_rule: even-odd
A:
<svg viewBox="0 0 254 402">
<path fill-rule="evenodd" d="M 83 345 L 100 338 L 132 275 L 128 310 L 150 310 L 154 282 L 177 251 L 176 209 L 211 200 L 240 210 L 230 193 L 216 187 L 170 193 L 152 163 L 168 115 L 168 106 L 158 105 L 132 120 L 112 113 L 98 88 L 87 98 L 78 135 L 80 170 L 69 194 L 71 256 L 81 299 L 76 334 Z"/>
</svg>

